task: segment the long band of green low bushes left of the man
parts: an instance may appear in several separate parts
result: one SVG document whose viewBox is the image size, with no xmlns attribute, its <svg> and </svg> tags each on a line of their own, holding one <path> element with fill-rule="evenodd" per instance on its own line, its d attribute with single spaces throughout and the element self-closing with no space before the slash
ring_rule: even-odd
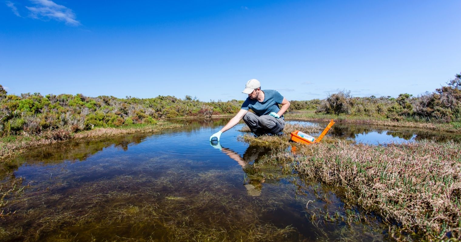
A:
<svg viewBox="0 0 461 242">
<path fill-rule="evenodd" d="M 45 135 L 48 131 L 72 133 L 94 127 L 156 124 L 162 118 L 210 117 L 236 113 L 242 101 L 202 102 L 186 96 L 138 99 L 113 96 L 86 97 L 82 94 L 39 93 L 8 95 L 0 85 L 0 136 Z"/>
</svg>

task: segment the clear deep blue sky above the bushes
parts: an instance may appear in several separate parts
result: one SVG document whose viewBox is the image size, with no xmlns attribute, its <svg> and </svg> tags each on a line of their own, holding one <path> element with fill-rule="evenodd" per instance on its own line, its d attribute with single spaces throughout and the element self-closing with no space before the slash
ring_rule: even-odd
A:
<svg viewBox="0 0 461 242">
<path fill-rule="evenodd" d="M 461 72 L 461 0 L 0 1 L 8 94 L 397 97 Z"/>
</svg>

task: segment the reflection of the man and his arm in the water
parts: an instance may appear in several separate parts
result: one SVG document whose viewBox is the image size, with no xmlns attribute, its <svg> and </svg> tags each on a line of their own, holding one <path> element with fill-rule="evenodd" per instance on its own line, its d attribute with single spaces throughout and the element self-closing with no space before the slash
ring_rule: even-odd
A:
<svg viewBox="0 0 461 242">
<path fill-rule="evenodd" d="M 229 157 L 234 159 L 239 165 L 242 166 L 243 171 L 248 176 L 248 184 L 244 184 L 245 188 L 247 189 L 247 193 L 250 196 L 259 196 L 261 195 L 262 183 L 264 183 L 264 178 L 255 176 L 255 172 L 252 166 L 247 166 L 251 162 L 256 162 L 260 157 L 265 155 L 269 152 L 269 148 L 263 148 L 258 146 L 249 146 L 245 153 L 243 154 L 243 158 L 236 153 L 235 151 L 229 148 L 222 148 L 221 151 L 227 154 Z"/>
</svg>

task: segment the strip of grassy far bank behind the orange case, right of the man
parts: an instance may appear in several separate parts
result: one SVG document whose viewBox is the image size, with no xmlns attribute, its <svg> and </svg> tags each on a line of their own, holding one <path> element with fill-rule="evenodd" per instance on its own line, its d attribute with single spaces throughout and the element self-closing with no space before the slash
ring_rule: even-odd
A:
<svg viewBox="0 0 461 242">
<path fill-rule="evenodd" d="M 301 110 L 296 112 L 288 112 L 284 115 L 286 120 L 300 120 L 300 121 L 330 121 L 334 119 L 338 123 L 357 123 L 357 124 L 372 124 L 384 125 L 391 127 L 407 127 L 407 128 L 420 128 L 426 130 L 447 131 L 452 133 L 461 133 L 461 125 L 459 122 L 452 122 L 449 124 L 437 124 L 428 122 L 409 122 L 409 121 L 392 121 L 383 117 L 371 116 L 351 116 L 351 115 L 331 115 L 319 114 L 314 110 Z"/>
</svg>

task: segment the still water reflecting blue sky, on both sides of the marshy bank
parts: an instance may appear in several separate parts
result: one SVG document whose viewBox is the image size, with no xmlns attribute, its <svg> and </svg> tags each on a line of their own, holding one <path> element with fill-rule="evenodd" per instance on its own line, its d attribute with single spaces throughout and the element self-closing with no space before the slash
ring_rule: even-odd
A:
<svg viewBox="0 0 461 242">
<path fill-rule="evenodd" d="M 341 190 L 260 162 L 271 151 L 237 142 L 244 124 L 221 136 L 222 149 L 213 148 L 209 136 L 227 121 L 177 120 L 186 124 L 181 130 L 70 141 L 14 159 L 1 173 L 2 186 L 25 188 L 3 200 L 0 240 L 390 240 L 379 218 L 341 201 Z M 424 130 L 333 127 L 331 136 L 373 144 L 460 140 Z"/>
</svg>

